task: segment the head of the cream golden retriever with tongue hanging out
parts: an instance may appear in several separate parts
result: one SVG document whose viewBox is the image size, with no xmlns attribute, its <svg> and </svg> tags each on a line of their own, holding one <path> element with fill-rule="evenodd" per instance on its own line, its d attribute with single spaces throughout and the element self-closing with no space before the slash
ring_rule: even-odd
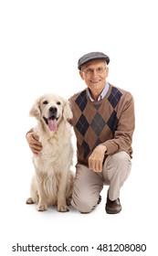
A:
<svg viewBox="0 0 158 256">
<path fill-rule="evenodd" d="M 45 94 L 38 98 L 29 113 L 45 123 L 51 132 L 57 131 L 62 120 L 72 119 L 69 102 L 57 94 Z"/>
</svg>

